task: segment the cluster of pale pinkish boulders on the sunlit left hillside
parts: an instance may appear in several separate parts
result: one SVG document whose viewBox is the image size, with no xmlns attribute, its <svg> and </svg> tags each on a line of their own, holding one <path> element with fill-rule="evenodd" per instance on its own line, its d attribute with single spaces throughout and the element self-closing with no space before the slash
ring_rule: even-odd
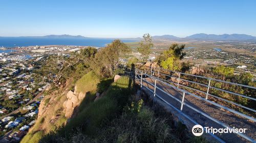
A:
<svg viewBox="0 0 256 143">
<path fill-rule="evenodd" d="M 63 103 L 63 107 L 65 108 L 65 116 L 67 118 L 70 118 L 72 116 L 75 107 L 77 107 L 85 97 L 86 93 L 78 93 L 76 87 L 74 92 L 70 90 L 67 93 L 67 101 Z"/>
</svg>

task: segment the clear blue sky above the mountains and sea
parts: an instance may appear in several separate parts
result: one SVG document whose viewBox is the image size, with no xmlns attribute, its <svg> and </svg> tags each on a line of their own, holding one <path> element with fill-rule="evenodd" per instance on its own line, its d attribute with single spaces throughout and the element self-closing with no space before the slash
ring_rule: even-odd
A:
<svg viewBox="0 0 256 143">
<path fill-rule="evenodd" d="M 1 0 L 0 36 L 256 36 L 256 1 Z"/>
</svg>

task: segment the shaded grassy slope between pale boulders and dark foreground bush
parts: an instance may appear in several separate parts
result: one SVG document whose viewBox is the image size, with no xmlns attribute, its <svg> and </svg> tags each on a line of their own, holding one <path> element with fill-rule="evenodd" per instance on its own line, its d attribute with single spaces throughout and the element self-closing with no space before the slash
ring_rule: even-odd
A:
<svg viewBox="0 0 256 143">
<path fill-rule="evenodd" d="M 52 132 L 43 141 L 57 142 L 62 137 L 68 139 L 73 136 L 75 130 L 94 136 L 100 125 L 122 112 L 132 89 L 133 81 L 128 77 L 122 77 L 110 86 L 105 96 L 89 103 L 65 127 Z"/>
</svg>

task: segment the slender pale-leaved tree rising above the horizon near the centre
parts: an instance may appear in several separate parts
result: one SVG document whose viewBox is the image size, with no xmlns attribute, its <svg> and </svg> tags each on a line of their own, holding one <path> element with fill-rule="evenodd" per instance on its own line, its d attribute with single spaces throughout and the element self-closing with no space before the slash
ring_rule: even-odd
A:
<svg viewBox="0 0 256 143">
<path fill-rule="evenodd" d="M 154 46 L 152 42 L 152 37 L 150 34 L 144 34 L 143 40 L 140 41 L 139 47 L 137 48 L 137 51 L 141 54 L 141 59 L 143 62 L 146 62 L 147 59 L 150 57 L 151 48 Z"/>
</svg>

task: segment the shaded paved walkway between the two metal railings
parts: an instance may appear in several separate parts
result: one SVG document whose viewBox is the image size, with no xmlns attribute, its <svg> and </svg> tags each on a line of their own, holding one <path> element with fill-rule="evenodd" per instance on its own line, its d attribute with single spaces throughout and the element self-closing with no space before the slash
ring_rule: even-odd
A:
<svg viewBox="0 0 256 143">
<path fill-rule="evenodd" d="M 145 79 L 147 82 L 151 83 L 154 85 L 155 80 L 152 78 L 146 78 Z M 139 83 L 137 81 L 137 83 Z M 154 91 L 154 86 L 143 82 L 143 85 L 150 88 L 152 91 Z M 162 82 L 156 83 L 157 87 L 161 88 L 165 92 L 171 94 L 172 96 L 176 97 L 179 100 L 182 100 L 182 93 L 178 92 L 174 88 L 167 86 L 166 84 Z M 143 87 L 143 90 L 148 90 Z M 163 98 L 165 101 L 168 103 L 172 104 L 176 108 L 180 109 L 181 103 L 174 100 L 172 97 L 168 96 L 168 94 L 164 93 L 163 91 L 156 89 L 156 93 L 158 96 Z M 199 100 L 195 97 L 190 96 L 189 94 L 185 94 L 185 100 L 184 102 L 200 111 L 205 112 L 206 114 L 210 115 L 211 117 L 216 118 L 217 120 L 225 123 L 226 125 L 230 127 L 236 127 L 236 128 L 247 128 L 247 132 L 245 133 L 247 136 L 253 138 L 254 140 L 256 139 L 256 127 L 255 124 L 252 122 L 249 122 L 245 118 L 238 117 L 237 115 L 234 115 L 233 113 L 227 112 L 223 109 L 220 109 L 219 107 L 216 107 L 214 105 L 211 105 L 205 101 Z M 201 124 L 204 127 L 214 127 L 214 128 L 224 128 L 220 126 L 218 123 L 215 123 L 211 120 L 209 120 L 207 117 L 199 114 L 198 112 L 183 106 L 183 113 L 186 115 L 189 115 L 193 120 L 195 120 L 197 123 Z M 236 134 L 230 134 L 230 133 L 223 133 L 223 134 L 218 134 L 218 137 L 223 139 L 226 142 L 246 142 L 246 140 Z"/>
</svg>

